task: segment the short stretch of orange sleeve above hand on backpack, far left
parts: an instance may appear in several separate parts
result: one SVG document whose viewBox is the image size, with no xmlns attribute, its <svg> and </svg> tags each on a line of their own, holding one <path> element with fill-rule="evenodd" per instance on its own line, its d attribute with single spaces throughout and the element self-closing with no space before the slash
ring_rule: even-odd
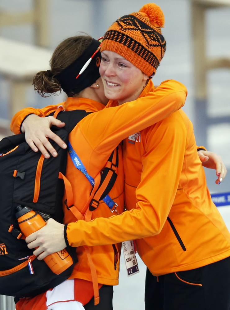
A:
<svg viewBox="0 0 230 310">
<path fill-rule="evenodd" d="M 19 112 L 17 112 L 14 117 L 11 120 L 11 124 L 10 124 L 10 130 L 14 133 L 14 134 L 18 134 L 21 133 L 20 129 L 21 129 L 21 125 L 23 123 L 23 121 L 25 120 L 25 118 L 30 115 L 30 114 L 36 114 L 38 116 L 42 116 L 43 113 L 47 110 L 52 109 L 52 107 L 54 108 L 54 110 L 56 109 L 56 106 L 58 105 L 51 105 L 51 106 L 46 106 L 43 109 L 35 109 L 35 108 L 25 108 L 23 110 L 20 110 Z M 64 103 L 62 103 L 62 105 L 64 106 Z M 52 110 L 49 112 L 51 113 Z M 48 114 L 49 114 L 48 113 Z"/>
</svg>

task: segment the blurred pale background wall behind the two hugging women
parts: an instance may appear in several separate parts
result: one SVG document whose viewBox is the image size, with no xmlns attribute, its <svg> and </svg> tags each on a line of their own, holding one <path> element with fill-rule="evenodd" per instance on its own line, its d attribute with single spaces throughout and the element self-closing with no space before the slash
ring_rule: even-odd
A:
<svg viewBox="0 0 230 310">
<path fill-rule="evenodd" d="M 38 2 L 40 7 L 36 8 Z M 202 12 L 197 11 L 194 2 L 203 5 Z M 207 2 L 209 6 L 214 2 L 230 4 L 228 0 L 156 0 L 165 13 L 163 34 L 167 50 L 153 82 L 159 85 L 166 79 L 176 79 L 187 86 L 183 110 L 195 124 L 198 145 L 204 143 L 209 151 L 221 155 L 230 168 L 230 7 L 214 4 L 207 8 Z M 17 105 L 39 108 L 65 100 L 63 93 L 44 99 L 31 85 L 34 73 L 49 69 L 51 53 L 61 40 L 80 31 L 99 38 L 119 16 L 138 11 L 145 3 L 145 0 L 0 0 L 0 135 L 9 134 L 7 126 Z M 29 12 L 34 8 L 33 17 Z M 205 32 L 201 27 L 203 17 Z M 218 64 L 210 63 L 211 70 L 207 72 L 204 48 L 196 55 L 200 62 L 194 62 L 192 33 L 198 41 L 205 36 L 208 57 L 221 58 Z M 203 76 L 197 72 L 201 69 L 206 72 Z M 204 94 L 199 87 L 205 79 Z M 211 192 L 230 190 L 230 173 L 217 186 L 214 170 L 205 172 Z M 124 263 L 121 264 L 120 285 L 115 288 L 115 310 L 144 309 L 145 267 L 140 259 L 139 263 L 141 272 L 129 279 Z"/>
</svg>

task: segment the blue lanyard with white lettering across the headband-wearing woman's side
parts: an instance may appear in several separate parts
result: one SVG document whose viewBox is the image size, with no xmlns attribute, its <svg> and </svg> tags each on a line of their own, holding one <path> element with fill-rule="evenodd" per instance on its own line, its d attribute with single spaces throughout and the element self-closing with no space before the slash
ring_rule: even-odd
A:
<svg viewBox="0 0 230 310">
<path fill-rule="evenodd" d="M 77 155 L 77 153 L 74 151 L 73 146 L 70 144 L 70 141 L 68 142 L 68 153 L 70 154 L 70 158 L 72 159 L 72 162 L 74 163 L 74 166 L 80 170 L 88 179 L 88 181 L 90 182 L 90 184 L 92 185 L 92 187 L 95 184 L 94 178 L 91 177 L 85 166 L 83 165 L 81 159 L 79 158 L 79 156 Z M 109 195 L 106 195 L 105 198 L 102 199 L 107 206 L 110 208 L 110 210 L 112 211 L 113 207 L 115 206 L 115 202 L 112 200 L 112 198 L 110 198 Z M 113 212 L 113 211 L 112 211 Z"/>
</svg>

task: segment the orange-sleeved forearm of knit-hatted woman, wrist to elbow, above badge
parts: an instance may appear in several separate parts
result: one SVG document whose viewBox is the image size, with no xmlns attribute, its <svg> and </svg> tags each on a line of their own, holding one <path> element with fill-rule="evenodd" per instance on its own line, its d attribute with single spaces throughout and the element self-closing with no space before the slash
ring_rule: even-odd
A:
<svg viewBox="0 0 230 310">
<path fill-rule="evenodd" d="M 96 218 L 91 222 L 79 220 L 67 226 L 67 239 L 71 246 L 108 245 L 125 240 L 135 240 L 153 236 L 159 231 L 159 223 L 150 221 L 154 216 L 152 207 L 132 209 L 111 218 Z M 141 223 L 145 224 L 140 227 Z M 135 229 L 136 227 L 136 229 Z"/>
</svg>

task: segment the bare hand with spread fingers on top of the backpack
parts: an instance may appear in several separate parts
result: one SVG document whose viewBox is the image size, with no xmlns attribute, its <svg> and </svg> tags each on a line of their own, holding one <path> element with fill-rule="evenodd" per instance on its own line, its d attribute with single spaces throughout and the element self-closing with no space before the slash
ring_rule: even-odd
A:
<svg viewBox="0 0 230 310">
<path fill-rule="evenodd" d="M 27 116 L 21 126 L 22 133 L 25 133 L 25 141 L 34 152 L 41 151 L 45 158 L 50 157 L 47 151 L 53 157 L 57 156 L 56 150 L 47 138 L 52 139 L 63 149 L 67 147 L 65 142 L 51 131 L 50 127 L 52 125 L 61 128 L 65 126 L 65 123 L 62 123 L 53 116 L 39 117 L 38 115 L 31 114 Z"/>
</svg>

